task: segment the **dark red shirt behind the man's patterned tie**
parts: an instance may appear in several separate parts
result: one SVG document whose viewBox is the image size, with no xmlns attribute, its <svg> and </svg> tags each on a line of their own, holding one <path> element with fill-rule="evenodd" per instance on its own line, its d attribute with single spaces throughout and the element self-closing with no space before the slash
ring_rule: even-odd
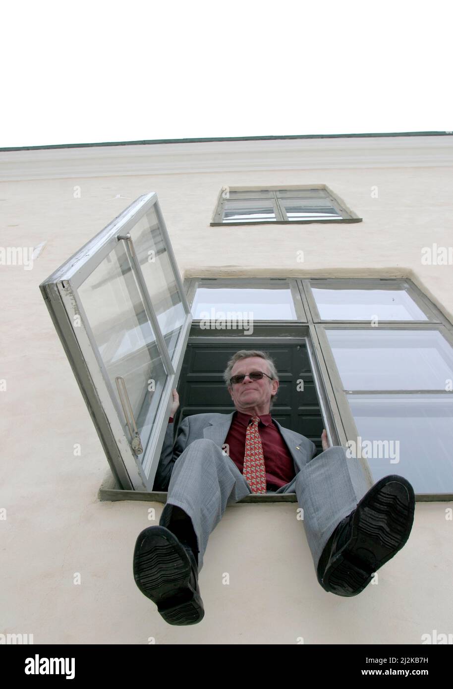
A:
<svg viewBox="0 0 453 689">
<path fill-rule="evenodd" d="M 236 410 L 228 431 L 225 443 L 229 445 L 229 457 L 238 467 L 240 473 L 244 469 L 245 436 L 251 414 L 244 414 Z M 169 423 L 173 417 L 169 418 Z M 276 490 L 293 480 L 295 477 L 294 460 L 271 414 L 262 414 L 258 424 L 261 444 L 263 446 L 264 464 L 266 465 L 266 488 Z"/>
</svg>

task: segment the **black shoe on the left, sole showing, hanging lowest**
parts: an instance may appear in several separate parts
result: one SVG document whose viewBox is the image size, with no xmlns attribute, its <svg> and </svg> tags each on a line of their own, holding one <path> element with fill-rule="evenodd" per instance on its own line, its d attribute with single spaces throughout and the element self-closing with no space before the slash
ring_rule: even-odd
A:
<svg viewBox="0 0 453 689">
<path fill-rule="evenodd" d="M 168 624 L 197 624 L 203 619 L 196 558 L 165 526 L 149 526 L 138 535 L 134 579 Z"/>
</svg>

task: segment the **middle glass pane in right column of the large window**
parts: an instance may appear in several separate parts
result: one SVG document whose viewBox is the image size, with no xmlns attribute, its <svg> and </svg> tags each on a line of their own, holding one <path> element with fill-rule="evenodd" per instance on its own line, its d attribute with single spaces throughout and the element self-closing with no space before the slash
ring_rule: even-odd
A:
<svg viewBox="0 0 453 689">
<path fill-rule="evenodd" d="M 447 390 L 453 349 L 438 330 L 329 329 L 345 390 Z"/>
</svg>

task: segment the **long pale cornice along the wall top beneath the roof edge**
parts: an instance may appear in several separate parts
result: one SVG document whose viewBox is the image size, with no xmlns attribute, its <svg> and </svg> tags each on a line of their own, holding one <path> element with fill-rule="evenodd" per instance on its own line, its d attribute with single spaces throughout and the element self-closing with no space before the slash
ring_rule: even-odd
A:
<svg viewBox="0 0 453 689">
<path fill-rule="evenodd" d="M 82 145 L 0 151 L 0 181 L 453 166 L 453 136 L 326 136 Z"/>
</svg>

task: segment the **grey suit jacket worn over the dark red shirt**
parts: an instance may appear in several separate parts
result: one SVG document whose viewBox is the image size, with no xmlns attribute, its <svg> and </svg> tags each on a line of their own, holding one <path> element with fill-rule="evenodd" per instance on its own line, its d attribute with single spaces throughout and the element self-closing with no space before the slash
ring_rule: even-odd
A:
<svg viewBox="0 0 453 689">
<path fill-rule="evenodd" d="M 220 414 L 209 412 L 206 414 L 193 414 L 186 416 L 179 428 L 178 436 L 173 446 L 173 424 L 168 424 L 165 433 L 165 440 L 160 453 L 160 460 L 156 477 L 154 478 L 154 491 L 167 491 L 173 466 L 178 460 L 179 455 L 186 449 L 193 440 L 208 438 L 213 440 L 221 449 L 227 438 L 228 431 L 233 420 L 234 411 L 231 414 Z M 273 419 L 277 428 L 282 433 L 288 451 L 294 460 L 295 474 L 308 464 L 315 457 L 317 448 L 314 442 L 308 440 L 305 435 L 300 435 L 295 431 L 281 426 L 278 421 Z M 295 481 L 295 478 L 293 479 Z M 291 483 L 293 483 L 293 481 Z M 283 486 L 282 486 L 283 487 Z M 281 489 L 279 489 L 281 490 Z M 286 489 L 288 490 L 288 488 Z M 276 491 L 277 493 L 279 491 Z"/>
</svg>

